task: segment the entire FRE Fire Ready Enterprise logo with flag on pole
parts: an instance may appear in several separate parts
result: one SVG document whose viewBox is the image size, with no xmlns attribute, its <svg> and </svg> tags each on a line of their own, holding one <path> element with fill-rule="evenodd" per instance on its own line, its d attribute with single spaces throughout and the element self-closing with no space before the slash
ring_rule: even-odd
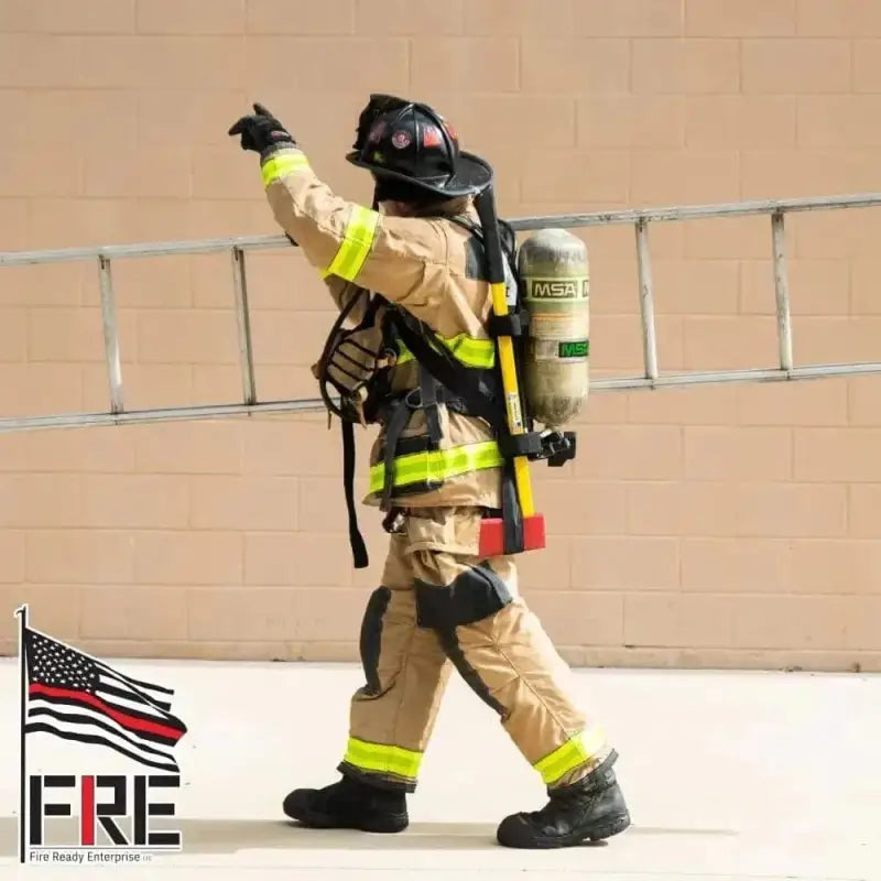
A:
<svg viewBox="0 0 881 881">
<path fill-rule="evenodd" d="M 34 630 L 26 603 L 15 614 L 21 671 L 19 861 L 141 862 L 153 852 L 181 850 L 180 831 L 149 828 L 151 817 L 174 815 L 174 805 L 151 800 L 149 790 L 167 792 L 181 785 L 173 749 L 187 728 L 172 713 L 174 690 L 135 679 Z M 141 773 L 91 768 L 72 774 L 67 765 L 29 775 L 29 733 L 106 747 L 140 765 Z M 111 792 L 99 795 L 107 790 Z M 77 818 L 74 839 L 67 834 L 50 844 L 57 836 L 47 835 L 47 817 Z"/>
</svg>

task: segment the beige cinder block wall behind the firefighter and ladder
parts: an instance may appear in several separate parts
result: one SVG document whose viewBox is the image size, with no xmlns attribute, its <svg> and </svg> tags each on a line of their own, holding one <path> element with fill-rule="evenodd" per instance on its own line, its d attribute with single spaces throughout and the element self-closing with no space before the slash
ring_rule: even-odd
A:
<svg viewBox="0 0 881 881">
<path fill-rule="evenodd" d="M 879 59 L 879 0 L 3 0 L 0 250 L 275 231 L 226 137 L 254 99 L 368 199 L 370 90 L 435 102 L 509 217 L 881 189 Z M 879 231 L 790 222 L 798 362 L 881 355 Z M 639 372 L 633 231 L 587 241 L 595 374 Z M 774 365 L 766 219 L 651 244 L 662 369 Z M 249 270 L 259 394 L 311 396 L 323 287 L 293 251 Z M 226 257 L 113 279 L 127 407 L 239 398 Z M 95 267 L 0 270 L 2 415 L 106 410 L 101 357 Z M 533 469 L 523 590 L 566 656 L 881 667 L 880 405 L 881 378 L 597 394 L 577 461 Z M 0 436 L 0 648 L 26 600 L 105 654 L 356 657 L 383 534 L 365 511 L 354 572 L 340 467 L 319 416 Z"/>
</svg>

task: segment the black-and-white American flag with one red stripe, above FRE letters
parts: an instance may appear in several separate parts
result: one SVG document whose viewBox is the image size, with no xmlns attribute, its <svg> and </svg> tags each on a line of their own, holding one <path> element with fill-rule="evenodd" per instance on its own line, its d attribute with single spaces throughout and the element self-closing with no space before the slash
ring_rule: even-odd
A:
<svg viewBox="0 0 881 881">
<path fill-rule="evenodd" d="M 171 713 L 171 688 L 133 679 L 26 624 L 23 733 L 108 747 L 140 764 L 180 773 L 172 748 L 186 726 Z"/>
</svg>

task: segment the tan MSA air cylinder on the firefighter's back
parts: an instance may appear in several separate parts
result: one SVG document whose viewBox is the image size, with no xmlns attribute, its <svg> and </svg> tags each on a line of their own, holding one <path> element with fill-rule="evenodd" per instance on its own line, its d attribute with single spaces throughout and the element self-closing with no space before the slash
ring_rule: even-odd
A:
<svg viewBox="0 0 881 881">
<path fill-rule="evenodd" d="M 518 269 L 530 313 L 526 401 L 536 422 L 559 429 L 580 412 L 590 382 L 587 246 L 565 229 L 543 229 L 521 244 Z"/>
</svg>

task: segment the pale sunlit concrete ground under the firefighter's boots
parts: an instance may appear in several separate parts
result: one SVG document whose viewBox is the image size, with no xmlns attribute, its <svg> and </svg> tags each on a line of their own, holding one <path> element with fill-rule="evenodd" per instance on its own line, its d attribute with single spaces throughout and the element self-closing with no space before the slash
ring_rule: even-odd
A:
<svg viewBox="0 0 881 881">
<path fill-rule="evenodd" d="M 505 814 L 544 803 L 541 782 L 455 677 L 411 798 L 411 827 L 371 836 L 301 829 L 280 811 L 294 785 L 336 779 L 357 666 L 108 663 L 175 688 L 174 709 L 189 728 L 177 748 L 176 814 L 164 820 L 182 830 L 183 851 L 127 866 L 126 877 L 881 879 L 881 676 L 577 671 L 578 698 L 621 754 L 633 826 L 602 846 L 535 853 L 497 846 L 494 830 Z M 18 675 L 14 659 L 0 659 L 0 877 L 113 872 L 18 862 Z M 113 757 L 28 737 L 29 773 L 101 773 Z"/>
</svg>

